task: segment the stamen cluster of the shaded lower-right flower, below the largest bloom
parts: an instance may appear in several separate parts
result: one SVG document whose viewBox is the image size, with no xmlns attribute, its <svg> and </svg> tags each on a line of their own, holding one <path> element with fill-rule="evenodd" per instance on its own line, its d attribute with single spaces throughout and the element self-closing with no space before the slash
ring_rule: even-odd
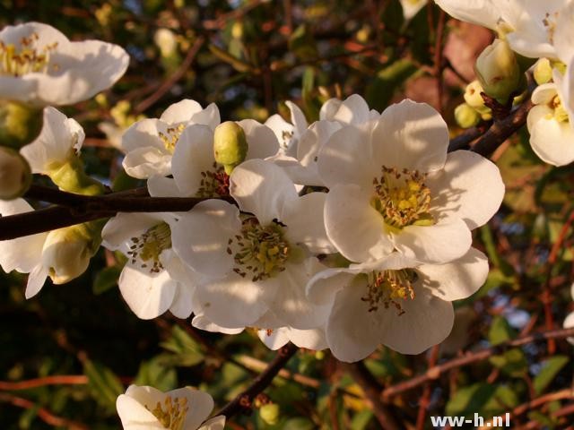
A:
<svg viewBox="0 0 574 430">
<path fill-rule="evenodd" d="M 418 276 L 413 269 L 399 271 L 371 271 L 367 274 L 367 295 L 361 297 L 369 304 L 369 312 L 375 312 L 379 306 L 388 309 L 396 307 L 399 315 L 404 314 L 401 300 L 414 299 L 413 282 Z"/>
</svg>

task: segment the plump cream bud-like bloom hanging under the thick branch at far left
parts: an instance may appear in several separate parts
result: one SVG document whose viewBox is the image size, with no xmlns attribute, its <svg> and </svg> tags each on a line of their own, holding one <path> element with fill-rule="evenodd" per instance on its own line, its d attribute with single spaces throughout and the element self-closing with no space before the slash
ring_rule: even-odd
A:
<svg viewBox="0 0 574 430">
<path fill-rule="evenodd" d="M 100 245 L 99 230 L 94 223 L 58 228 L 48 233 L 42 248 L 42 265 L 48 268 L 55 284 L 64 284 L 88 268 L 90 258 Z"/>
</svg>

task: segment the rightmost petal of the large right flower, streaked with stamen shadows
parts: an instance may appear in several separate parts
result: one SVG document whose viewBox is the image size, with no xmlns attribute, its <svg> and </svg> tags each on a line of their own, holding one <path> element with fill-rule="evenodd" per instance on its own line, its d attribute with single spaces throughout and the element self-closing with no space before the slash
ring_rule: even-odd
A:
<svg viewBox="0 0 574 430">
<path fill-rule="evenodd" d="M 463 219 L 470 229 L 491 219 L 504 197 L 499 168 L 469 150 L 449 153 L 444 169 L 429 176 L 425 183 L 431 188 L 431 214 L 435 220 Z"/>
</svg>

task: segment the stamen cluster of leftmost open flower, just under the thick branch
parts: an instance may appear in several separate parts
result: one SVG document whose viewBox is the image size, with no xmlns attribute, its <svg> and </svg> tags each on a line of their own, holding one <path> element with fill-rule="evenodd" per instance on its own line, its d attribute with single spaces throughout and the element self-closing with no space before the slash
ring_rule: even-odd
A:
<svg viewBox="0 0 574 430">
<path fill-rule="evenodd" d="M 160 254 L 165 249 L 171 248 L 171 229 L 167 223 L 161 222 L 148 228 L 142 236 L 132 237 L 131 242 L 132 245 L 127 254 L 132 264 L 139 259 L 142 269 L 149 268 L 151 273 L 159 273 L 163 270 Z"/>
</svg>

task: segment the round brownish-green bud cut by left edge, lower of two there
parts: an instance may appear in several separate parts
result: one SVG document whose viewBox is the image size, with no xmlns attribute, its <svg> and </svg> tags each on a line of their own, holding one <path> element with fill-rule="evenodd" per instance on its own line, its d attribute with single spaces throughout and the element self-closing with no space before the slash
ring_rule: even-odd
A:
<svg viewBox="0 0 574 430">
<path fill-rule="evenodd" d="M 30 187 L 31 181 L 28 161 L 18 151 L 0 146 L 0 199 L 21 197 Z"/>
</svg>

